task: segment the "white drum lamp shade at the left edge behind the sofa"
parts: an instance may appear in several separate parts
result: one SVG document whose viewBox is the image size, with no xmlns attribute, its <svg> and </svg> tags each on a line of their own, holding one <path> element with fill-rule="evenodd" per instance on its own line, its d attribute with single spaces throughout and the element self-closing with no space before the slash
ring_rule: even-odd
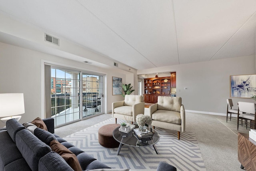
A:
<svg viewBox="0 0 256 171">
<path fill-rule="evenodd" d="M 23 93 L 0 94 L 0 117 L 25 113 Z"/>
</svg>

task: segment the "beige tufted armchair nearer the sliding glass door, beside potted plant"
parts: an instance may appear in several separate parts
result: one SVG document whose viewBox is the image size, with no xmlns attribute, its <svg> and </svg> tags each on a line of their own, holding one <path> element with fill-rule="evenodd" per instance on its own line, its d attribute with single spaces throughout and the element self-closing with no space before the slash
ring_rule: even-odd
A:
<svg viewBox="0 0 256 171">
<path fill-rule="evenodd" d="M 142 95 L 125 95 L 124 100 L 112 103 L 112 117 L 136 122 L 138 114 L 144 114 L 145 102 Z"/>
</svg>

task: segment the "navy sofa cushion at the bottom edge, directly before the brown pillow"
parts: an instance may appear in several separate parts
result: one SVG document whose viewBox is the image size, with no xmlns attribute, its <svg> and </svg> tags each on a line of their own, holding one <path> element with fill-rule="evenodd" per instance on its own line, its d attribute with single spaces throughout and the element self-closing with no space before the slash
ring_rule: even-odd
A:
<svg viewBox="0 0 256 171">
<path fill-rule="evenodd" d="M 56 152 L 51 151 L 39 160 L 38 171 L 74 171 Z"/>
</svg>

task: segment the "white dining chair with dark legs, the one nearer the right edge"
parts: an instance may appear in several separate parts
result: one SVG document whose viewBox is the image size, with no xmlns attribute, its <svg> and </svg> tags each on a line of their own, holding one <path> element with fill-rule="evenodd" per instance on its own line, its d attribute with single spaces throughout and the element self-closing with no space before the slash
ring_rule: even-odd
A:
<svg viewBox="0 0 256 171">
<path fill-rule="evenodd" d="M 243 112 L 243 113 L 240 114 L 240 112 Z M 237 130 L 239 126 L 239 119 L 245 119 L 246 129 L 247 129 L 248 120 L 250 120 L 250 128 L 256 129 L 255 116 L 256 116 L 255 103 L 238 101 Z"/>
</svg>

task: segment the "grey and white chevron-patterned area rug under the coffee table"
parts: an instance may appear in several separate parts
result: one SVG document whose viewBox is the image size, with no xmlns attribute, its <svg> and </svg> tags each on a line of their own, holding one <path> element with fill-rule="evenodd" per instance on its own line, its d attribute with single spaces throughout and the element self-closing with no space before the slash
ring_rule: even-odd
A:
<svg viewBox="0 0 256 171">
<path fill-rule="evenodd" d="M 111 168 L 156 171 L 158 163 L 165 161 L 180 171 L 206 171 L 196 136 L 192 132 L 180 133 L 178 140 L 176 131 L 156 127 L 160 135 L 160 141 L 156 143 L 159 155 L 156 154 L 153 146 L 126 145 L 123 145 L 119 155 L 116 155 L 118 148 L 109 149 L 98 143 L 98 129 L 114 122 L 114 118 L 108 119 L 68 135 L 64 139 Z M 118 119 L 118 122 L 121 123 L 121 120 Z"/>
</svg>

